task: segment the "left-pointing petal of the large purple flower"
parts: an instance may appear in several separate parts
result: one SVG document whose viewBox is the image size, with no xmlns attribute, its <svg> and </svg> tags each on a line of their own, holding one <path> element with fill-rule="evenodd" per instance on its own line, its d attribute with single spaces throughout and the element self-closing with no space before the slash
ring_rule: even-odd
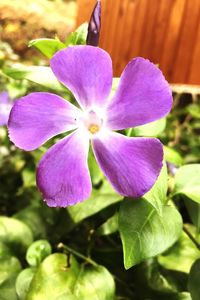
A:
<svg viewBox="0 0 200 300">
<path fill-rule="evenodd" d="M 51 137 L 77 127 L 78 108 L 50 93 L 32 93 L 15 102 L 9 118 L 11 141 L 34 150 Z"/>
</svg>

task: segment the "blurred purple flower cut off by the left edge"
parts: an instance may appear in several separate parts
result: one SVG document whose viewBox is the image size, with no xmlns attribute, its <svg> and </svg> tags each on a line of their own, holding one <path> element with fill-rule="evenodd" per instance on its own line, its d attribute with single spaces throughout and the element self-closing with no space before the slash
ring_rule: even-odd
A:
<svg viewBox="0 0 200 300">
<path fill-rule="evenodd" d="M 13 103 L 10 100 L 8 92 L 0 93 L 0 126 L 7 125 L 9 114 Z"/>
</svg>

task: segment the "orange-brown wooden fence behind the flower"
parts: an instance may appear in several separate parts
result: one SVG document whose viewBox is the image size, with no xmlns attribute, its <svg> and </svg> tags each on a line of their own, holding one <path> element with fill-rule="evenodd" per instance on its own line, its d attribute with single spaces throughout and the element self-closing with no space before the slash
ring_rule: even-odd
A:
<svg viewBox="0 0 200 300">
<path fill-rule="evenodd" d="M 78 0 L 77 25 L 88 21 L 95 3 Z M 200 84 L 200 0 L 102 0 L 100 46 L 115 76 L 143 56 L 170 82 Z"/>
</svg>

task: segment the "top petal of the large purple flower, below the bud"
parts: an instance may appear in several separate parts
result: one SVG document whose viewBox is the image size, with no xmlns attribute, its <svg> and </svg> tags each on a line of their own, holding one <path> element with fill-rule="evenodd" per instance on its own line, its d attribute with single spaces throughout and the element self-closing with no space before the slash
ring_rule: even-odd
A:
<svg viewBox="0 0 200 300">
<path fill-rule="evenodd" d="M 58 51 L 50 65 L 80 106 L 90 108 L 105 103 L 112 86 L 112 61 L 104 50 L 92 46 L 68 47 Z"/>
</svg>

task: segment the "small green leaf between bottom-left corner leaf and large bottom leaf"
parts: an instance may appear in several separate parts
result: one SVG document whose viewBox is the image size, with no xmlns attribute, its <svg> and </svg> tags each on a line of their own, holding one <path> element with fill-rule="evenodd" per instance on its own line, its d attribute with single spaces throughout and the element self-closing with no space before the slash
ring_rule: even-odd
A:
<svg viewBox="0 0 200 300">
<path fill-rule="evenodd" d="M 17 276 L 15 288 L 20 300 L 26 300 L 26 296 L 36 269 L 27 268 L 22 270 Z"/>
</svg>

